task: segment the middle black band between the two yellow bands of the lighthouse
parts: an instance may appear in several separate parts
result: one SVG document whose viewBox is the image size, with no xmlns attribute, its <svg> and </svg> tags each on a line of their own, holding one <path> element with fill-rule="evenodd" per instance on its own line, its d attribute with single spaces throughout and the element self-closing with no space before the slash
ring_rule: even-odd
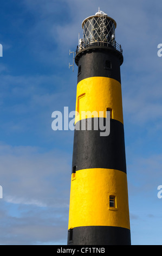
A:
<svg viewBox="0 0 162 256">
<path fill-rule="evenodd" d="M 99 119 L 105 120 L 105 118 Z M 89 168 L 117 169 L 126 173 L 124 125 L 120 121 L 111 119 L 110 134 L 102 137 L 100 136 L 102 131 L 99 129 L 99 119 L 97 131 L 93 130 L 94 118 L 92 118 L 91 131 L 74 131 L 73 167 L 76 166 L 75 170 Z M 81 127 L 82 121 L 85 121 L 85 119 L 76 123 L 77 129 L 79 126 Z"/>
</svg>

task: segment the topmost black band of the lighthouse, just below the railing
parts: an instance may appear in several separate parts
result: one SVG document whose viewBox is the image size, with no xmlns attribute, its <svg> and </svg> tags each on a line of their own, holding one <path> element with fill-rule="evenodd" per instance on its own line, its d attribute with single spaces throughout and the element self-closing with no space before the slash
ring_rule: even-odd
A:
<svg viewBox="0 0 162 256">
<path fill-rule="evenodd" d="M 84 54 L 83 54 L 84 53 Z M 77 83 L 88 77 L 110 77 L 121 83 L 120 60 L 113 51 L 104 48 L 85 50 L 78 59 L 79 74 Z M 108 68 L 106 61 L 111 62 Z"/>
</svg>

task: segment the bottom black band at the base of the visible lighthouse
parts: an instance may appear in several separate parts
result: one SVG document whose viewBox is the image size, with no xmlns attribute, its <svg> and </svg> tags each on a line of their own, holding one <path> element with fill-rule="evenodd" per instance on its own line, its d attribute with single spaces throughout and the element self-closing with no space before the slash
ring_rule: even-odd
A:
<svg viewBox="0 0 162 256">
<path fill-rule="evenodd" d="M 131 233 L 120 227 L 76 227 L 68 231 L 68 245 L 131 245 Z"/>
</svg>

